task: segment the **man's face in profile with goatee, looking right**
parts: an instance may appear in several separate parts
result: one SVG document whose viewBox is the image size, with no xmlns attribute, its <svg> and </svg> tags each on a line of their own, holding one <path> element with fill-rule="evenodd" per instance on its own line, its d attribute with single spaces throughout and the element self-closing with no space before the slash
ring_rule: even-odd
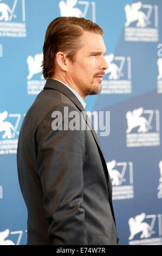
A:
<svg viewBox="0 0 162 256">
<path fill-rule="evenodd" d="M 99 34 L 84 32 L 83 46 L 77 51 L 75 62 L 69 62 L 70 78 L 77 87 L 77 92 L 83 97 L 101 92 L 102 77 L 108 64 L 103 57 L 106 46 Z"/>
</svg>

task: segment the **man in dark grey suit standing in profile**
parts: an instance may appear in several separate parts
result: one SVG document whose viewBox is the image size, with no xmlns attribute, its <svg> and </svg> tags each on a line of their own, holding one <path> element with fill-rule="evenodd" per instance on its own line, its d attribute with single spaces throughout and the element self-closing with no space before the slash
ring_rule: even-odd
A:
<svg viewBox="0 0 162 256">
<path fill-rule="evenodd" d="M 28 209 L 27 245 L 118 243 L 112 184 L 96 133 L 93 127 L 67 129 L 64 112 L 81 117 L 83 99 L 101 91 L 108 68 L 102 34 L 95 23 L 76 17 L 59 17 L 47 28 L 47 82 L 25 115 L 17 149 Z"/>
</svg>

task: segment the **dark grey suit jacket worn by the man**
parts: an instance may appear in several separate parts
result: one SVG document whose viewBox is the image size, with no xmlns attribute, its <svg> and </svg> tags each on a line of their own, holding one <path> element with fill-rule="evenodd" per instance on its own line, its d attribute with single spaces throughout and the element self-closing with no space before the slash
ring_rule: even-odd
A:
<svg viewBox="0 0 162 256">
<path fill-rule="evenodd" d="M 64 123 L 64 107 L 80 117 L 85 111 L 73 92 L 49 79 L 21 127 L 17 168 L 27 245 L 116 245 L 112 183 L 98 137 L 93 128 L 54 131 L 52 113 L 60 111 Z"/>
</svg>

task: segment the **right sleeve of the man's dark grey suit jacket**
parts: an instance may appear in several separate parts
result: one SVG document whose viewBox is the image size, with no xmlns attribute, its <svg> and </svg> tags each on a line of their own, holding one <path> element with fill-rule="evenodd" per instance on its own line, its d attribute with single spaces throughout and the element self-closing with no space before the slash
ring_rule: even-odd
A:
<svg viewBox="0 0 162 256">
<path fill-rule="evenodd" d="M 49 242 L 50 245 L 87 245 L 82 208 L 85 133 L 67 129 L 67 121 L 72 118 L 67 120 L 64 107 L 57 106 L 46 114 L 36 132 L 38 175 L 43 188 Z M 76 111 L 72 106 L 66 107 L 69 113 Z M 55 113 L 60 113 L 57 130 L 52 129 L 56 124 L 53 123 Z"/>
</svg>

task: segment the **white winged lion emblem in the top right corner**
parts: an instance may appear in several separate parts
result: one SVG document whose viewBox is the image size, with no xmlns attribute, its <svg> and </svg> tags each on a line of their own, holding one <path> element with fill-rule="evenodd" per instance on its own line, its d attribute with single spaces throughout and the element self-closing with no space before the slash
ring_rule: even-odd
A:
<svg viewBox="0 0 162 256">
<path fill-rule="evenodd" d="M 126 4 L 125 6 L 125 13 L 126 13 L 126 23 L 125 27 L 128 27 L 133 21 L 138 21 L 136 26 L 137 27 L 147 27 L 148 24 L 151 24 L 150 21 L 148 21 L 147 16 L 142 11 L 139 11 L 141 9 L 142 3 L 139 1 L 137 3 L 133 3 L 131 5 Z"/>
</svg>

